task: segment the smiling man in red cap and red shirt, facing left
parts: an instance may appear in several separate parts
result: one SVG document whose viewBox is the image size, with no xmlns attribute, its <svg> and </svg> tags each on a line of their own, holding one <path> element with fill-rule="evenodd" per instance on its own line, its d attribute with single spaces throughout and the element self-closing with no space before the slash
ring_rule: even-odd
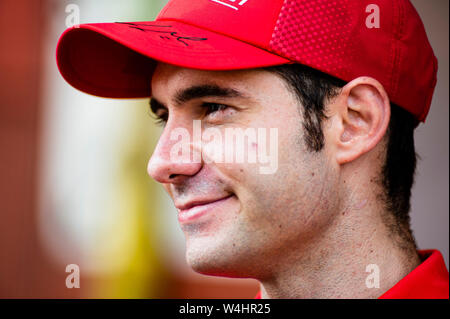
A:
<svg viewBox="0 0 450 319">
<path fill-rule="evenodd" d="M 448 298 L 409 226 L 437 61 L 408 1 L 172 0 L 67 30 L 57 61 L 87 93 L 151 96 L 148 172 L 197 272 L 263 298 Z"/>
</svg>

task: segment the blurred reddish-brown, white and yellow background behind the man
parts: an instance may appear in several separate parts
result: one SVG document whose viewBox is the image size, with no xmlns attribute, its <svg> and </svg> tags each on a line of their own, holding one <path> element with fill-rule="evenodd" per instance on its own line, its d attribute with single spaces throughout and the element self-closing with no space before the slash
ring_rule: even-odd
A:
<svg viewBox="0 0 450 319">
<path fill-rule="evenodd" d="M 83 94 L 56 67 L 68 25 L 149 21 L 166 2 L 0 0 L 0 298 L 252 298 L 258 291 L 255 280 L 187 267 L 173 204 L 146 172 L 160 134 L 148 99 Z M 448 267 L 449 2 L 412 2 L 439 61 L 433 105 L 416 132 L 412 227 L 419 248 L 439 249 Z M 79 266 L 80 288 L 66 287 L 69 264 Z"/>
</svg>

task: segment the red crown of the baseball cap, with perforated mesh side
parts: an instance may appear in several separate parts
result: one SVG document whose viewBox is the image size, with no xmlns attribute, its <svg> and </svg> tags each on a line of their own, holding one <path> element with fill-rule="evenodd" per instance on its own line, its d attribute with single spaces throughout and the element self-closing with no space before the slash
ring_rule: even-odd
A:
<svg viewBox="0 0 450 319">
<path fill-rule="evenodd" d="M 157 20 L 214 31 L 345 81 L 371 76 L 422 121 L 431 104 L 437 60 L 408 0 L 172 0 Z"/>
</svg>

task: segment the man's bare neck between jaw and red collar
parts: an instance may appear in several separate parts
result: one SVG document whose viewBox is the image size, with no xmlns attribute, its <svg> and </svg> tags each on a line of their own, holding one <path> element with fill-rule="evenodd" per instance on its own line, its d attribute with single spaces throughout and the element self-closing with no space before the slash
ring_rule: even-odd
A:
<svg viewBox="0 0 450 319">
<path fill-rule="evenodd" d="M 420 263 L 414 243 L 398 245 L 381 212 L 346 209 L 325 233 L 260 280 L 262 298 L 378 298 Z"/>
</svg>

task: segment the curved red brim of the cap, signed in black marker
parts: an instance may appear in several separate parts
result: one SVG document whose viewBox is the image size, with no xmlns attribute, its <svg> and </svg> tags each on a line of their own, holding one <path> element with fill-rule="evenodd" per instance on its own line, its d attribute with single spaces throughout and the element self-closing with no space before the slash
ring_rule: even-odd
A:
<svg viewBox="0 0 450 319">
<path fill-rule="evenodd" d="M 290 63 L 245 42 L 178 21 L 81 24 L 59 39 L 56 59 L 75 88 L 102 97 L 151 96 L 157 61 L 200 70 Z"/>
</svg>

